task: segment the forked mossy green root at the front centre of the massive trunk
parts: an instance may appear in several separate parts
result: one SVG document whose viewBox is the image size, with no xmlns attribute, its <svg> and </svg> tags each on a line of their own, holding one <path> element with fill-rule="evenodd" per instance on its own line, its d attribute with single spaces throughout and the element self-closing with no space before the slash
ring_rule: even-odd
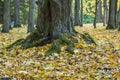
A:
<svg viewBox="0 0 120 80">
<path fill-rule="evenodd" d="M 78 40 L 74 38 L 73 34 L 64 33 L 59 36 L 57 40 L 54 40 L 50 49 L 45 53 L 45 56 L 52 55 L 53 53 L 60 53 L 60 45 L 67 45 L 66 51 L 71 54 L 74 54 L 74 43 L 77 43 Z"/>
</svg>

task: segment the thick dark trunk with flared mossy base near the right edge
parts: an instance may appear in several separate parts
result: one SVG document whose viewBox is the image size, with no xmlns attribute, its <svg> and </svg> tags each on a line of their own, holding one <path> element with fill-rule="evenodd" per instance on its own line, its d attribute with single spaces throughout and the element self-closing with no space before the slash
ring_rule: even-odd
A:
<svg viewBox="0 0 120 80">
<path fill-rule="evenodd" d="M 116 11 L 117 11 L 117 0 L 110 0 L 109 2 L 109 20 L 106 29 L 115 29 L 116 26 Z"/>
</svg>

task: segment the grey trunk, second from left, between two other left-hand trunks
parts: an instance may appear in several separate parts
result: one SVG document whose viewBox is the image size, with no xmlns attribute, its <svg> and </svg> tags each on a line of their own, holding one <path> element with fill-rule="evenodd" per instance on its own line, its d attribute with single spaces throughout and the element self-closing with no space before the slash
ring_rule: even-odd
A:
<svg viewBox="0 0 120 80">
<path fill-rule="evenodd" d="M 15 11 L 15 17 L 14 17 L 14 20 L 15 20 L 15 27 L 20 27 L 21 24 L 20 24 L 20 4 L 19 4 L 19 0 L 14 0 L 14 11 Z"/>
</svg>

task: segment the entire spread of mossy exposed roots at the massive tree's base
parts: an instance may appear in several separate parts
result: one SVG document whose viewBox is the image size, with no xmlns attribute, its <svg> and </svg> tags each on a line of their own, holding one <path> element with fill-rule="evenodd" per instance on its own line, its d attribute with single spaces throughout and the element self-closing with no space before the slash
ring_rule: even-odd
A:
<svg viewBox="0 0 120 80">
<path fill-rule="evenodd" d="M 97 45 L 94 39 L 88 33 L 63 33 L 57 39 L 52 39 L 51 37 L 43 37 L 43 35 L 40 35 L 40 33 L 36 30 L 32 34 L 30 34 L 26 39 L 19 39 L 13 44 L 9 45 L 7 48 L 12 48 L 13 46 L 21 45 L 22 49 L 26 49 L 52 43 L 50 49 L 45 53 L 45 56 L 52 55 L 53 53 L 60 53 L 60 45 L 66 45 L 66 51 L 68 51 L 71 54 L 74 54 L 74 43 L 78 43 L 78 39 L 75 37 L 76 34 L 81 35 L 85 42 Z"/>
</svg>

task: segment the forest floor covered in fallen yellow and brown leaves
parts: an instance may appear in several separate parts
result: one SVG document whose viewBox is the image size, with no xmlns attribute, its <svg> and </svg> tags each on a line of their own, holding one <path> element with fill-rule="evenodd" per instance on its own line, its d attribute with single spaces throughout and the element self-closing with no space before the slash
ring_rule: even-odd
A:
<svg viewBox="0 0 120 80">
<path fill-rule="evenodd" d="M 60 54 L 45 57 L 50 44 L 26 50 L 19 46 L 5 47 L 25 38 L 26 28 L 14 28 L 9 34 L 0 33 L 0 77 L 17 80 L 120 80 L 120 32 L 105 27 L 76 27 L 80 33 L 88 32 L 98 46 L 87 44 L 79 37 L 75 54 L 62 46 Z"/>
</svg>

